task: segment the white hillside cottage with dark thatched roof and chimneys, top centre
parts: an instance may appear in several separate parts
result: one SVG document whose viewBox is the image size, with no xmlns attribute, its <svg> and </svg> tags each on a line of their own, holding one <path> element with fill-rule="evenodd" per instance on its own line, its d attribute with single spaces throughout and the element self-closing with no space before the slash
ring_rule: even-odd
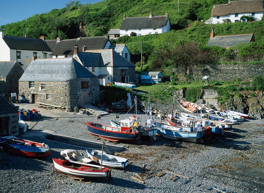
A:
<svg viewBox="0 0 264 193">
<path fill-rule="evenodd" d="M 120 25 L 120 36 L 143 36 L 147 34 L 163 33 L 171 29 L 168 12 L 163 16 L 123 17 Z"/>
</svg>

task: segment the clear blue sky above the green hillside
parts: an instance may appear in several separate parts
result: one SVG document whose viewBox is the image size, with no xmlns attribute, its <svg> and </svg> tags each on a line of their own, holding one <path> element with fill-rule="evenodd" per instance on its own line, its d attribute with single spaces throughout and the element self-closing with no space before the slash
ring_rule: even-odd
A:
<svg viewBox="0 0 264 193">
<path fill-rule="evenodd" d="M 61 9 L 69 2 L 71 0 L 0 0 L 0 26 L 24 20 L 37 13 Z M 81 4 L 96 2 L 98 0 L 80 0 Z"/>
</svg>

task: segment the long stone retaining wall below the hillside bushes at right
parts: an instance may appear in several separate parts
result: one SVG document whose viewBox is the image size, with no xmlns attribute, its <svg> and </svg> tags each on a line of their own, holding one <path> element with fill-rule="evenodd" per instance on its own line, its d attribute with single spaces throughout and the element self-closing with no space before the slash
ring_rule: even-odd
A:
<svg viewBox="0 0 264 193">
<path fill-rule="evenodd" d="M 175 74 L 179 71 L 184 74 L 182 69 L 168 69 Z M 239 78 L 246 80 L 253 78 L 256 75 L 263 76 L 264 64 L 208 64 L 204 67 L 192 67 L 187 69 L 187 74 L 192 76 L 195 80 L 202 80 L 203 76 L 210 76 L 210 80 L 219 81 L 233 81 Z"/>
</svg>

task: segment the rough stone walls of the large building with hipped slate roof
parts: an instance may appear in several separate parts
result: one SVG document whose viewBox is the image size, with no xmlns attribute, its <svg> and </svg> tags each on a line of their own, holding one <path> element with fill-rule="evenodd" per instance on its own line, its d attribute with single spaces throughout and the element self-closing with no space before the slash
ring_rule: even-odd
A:
<svg viewBox="0 0 264 193">
<path fill-rule="evenodd" d="M 88 82 L 88 88 L 81 89 L 81 82 Z M 66 82 L 43 82 L 35 81 L 35 88 L 29 88 L 28 81 L 19 82 L 19 94 L 24 93 L 25 97 L 34 102 L 32 94 L 37 94 L 38 102 L 47 103 L 50 105 L 62 106 L 73 110 L 74 106 L 80 104 L 80 93 L 92 91 L 92 99 L 95 102 L 99 100 L 99 80 L 94 78 L 77 78 Z M 39 85 L 45 84 L 45 89 L 39 90 Z M 50 99 L 47 99 L 47 94 L 50 94 Z"/>
</svg>

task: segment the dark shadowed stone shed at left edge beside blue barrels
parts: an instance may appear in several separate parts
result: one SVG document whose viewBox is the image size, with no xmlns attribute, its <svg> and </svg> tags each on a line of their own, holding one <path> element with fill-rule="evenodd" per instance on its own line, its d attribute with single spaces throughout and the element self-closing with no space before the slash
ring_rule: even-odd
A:
<svg viewBox="0 0 264 193">
<path fill-rule="evenodd" d="M 0 93 L 0 136 L 18 134 L 18 109 Z"/>
</svg>

